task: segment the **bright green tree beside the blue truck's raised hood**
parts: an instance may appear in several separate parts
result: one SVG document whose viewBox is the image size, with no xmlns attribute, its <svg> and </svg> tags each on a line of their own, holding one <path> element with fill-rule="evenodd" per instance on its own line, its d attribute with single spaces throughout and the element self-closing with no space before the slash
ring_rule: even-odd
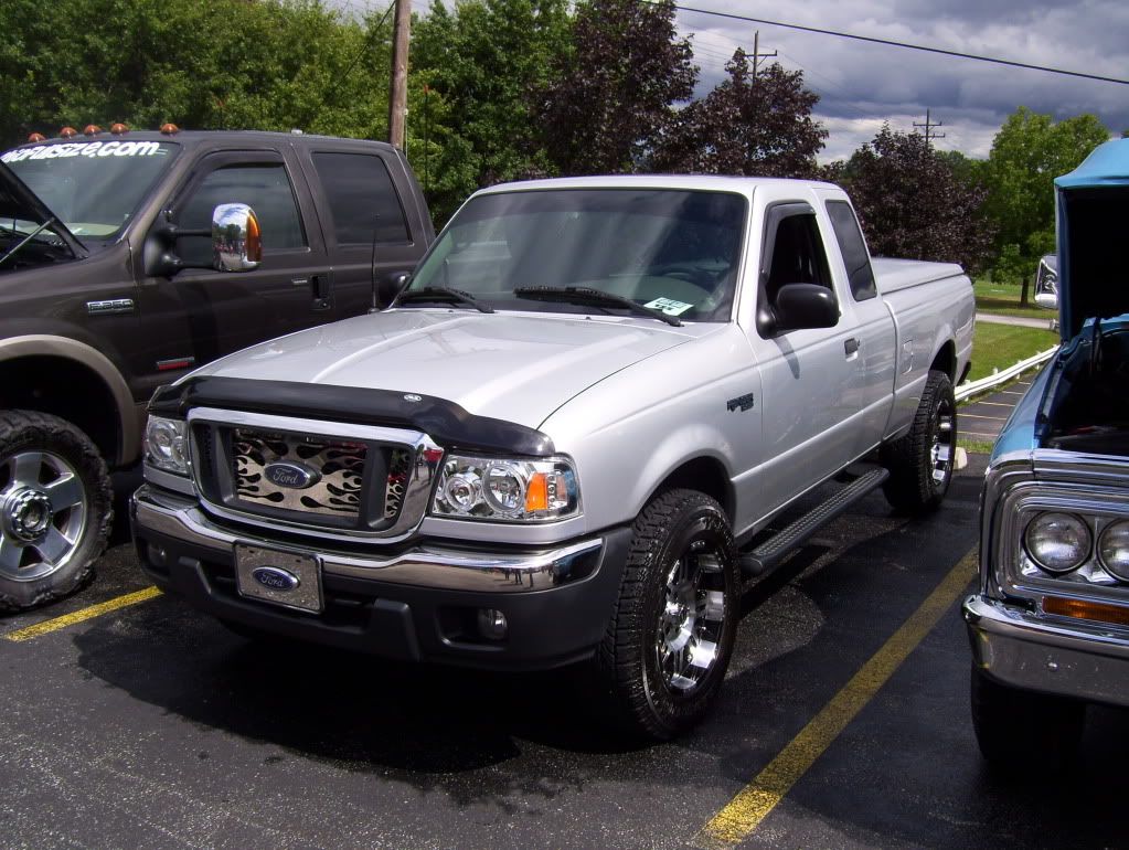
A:
<svg viewBox="0 0 1129 850">
<path fill-rule="evenodd" d="M 992 274 L 1022 280 L 1054 251 L 1054 178 L 1073 170 L 1110 132 L 1094 115 L 1054 123 L 1021 106 L 1000 128 L 983 168 L 987 213 L 997 230 Z"/>
</svg>

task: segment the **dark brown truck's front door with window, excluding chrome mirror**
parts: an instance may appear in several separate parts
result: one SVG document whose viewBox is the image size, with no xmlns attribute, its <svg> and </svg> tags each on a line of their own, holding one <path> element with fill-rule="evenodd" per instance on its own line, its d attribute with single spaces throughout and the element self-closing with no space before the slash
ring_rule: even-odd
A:
<svg viewBox="0 0 1129 850">
<path fill-rule="evenodd" d="M 152 383 L 256 342 L 330 319 L 330 266 L 305 178 L 280 150 L 220 151 L 203 156 L 182 179 L 154 225 L 208 231 L 221 203 L 246 203 L 259 217 L 263 262 L 251 272 L 186 269 L 148 275 L 141 286 L 141 325 Z M 177 238 L 185 263 L 210 265 L 209 236 Z"/>
</svg>

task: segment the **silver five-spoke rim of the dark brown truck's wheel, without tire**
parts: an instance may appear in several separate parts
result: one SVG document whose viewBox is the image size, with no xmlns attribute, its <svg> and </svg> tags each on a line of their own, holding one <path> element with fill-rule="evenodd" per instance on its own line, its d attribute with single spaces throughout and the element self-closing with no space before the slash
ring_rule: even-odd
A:
<svg viewBox="0 0 1129 850">
<path fill-rule="evenodd" d="M 87 524 L 86 490 L 52 452 L 0 461 L 0 577 L 29 581 L 69 564 Z"/>
</svg>

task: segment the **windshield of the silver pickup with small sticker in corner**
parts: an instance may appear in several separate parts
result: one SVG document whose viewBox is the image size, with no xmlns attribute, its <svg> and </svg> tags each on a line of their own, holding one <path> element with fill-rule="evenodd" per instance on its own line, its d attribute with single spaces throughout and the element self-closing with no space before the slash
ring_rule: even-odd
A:
<svg viewBox="0 0 1129 850">
<path fill-rule="evenodd" d="M 576 287 L 681 319 L 725 322 L 745 209 L 737 194 L 663 189 L 480 195 L 455 216 L 408 291 L 455 289 L 495 309 L 623 313 L 611 301 L 569 303 L 567 292 L 528 297 L 531 287 Z"/>
</svg>

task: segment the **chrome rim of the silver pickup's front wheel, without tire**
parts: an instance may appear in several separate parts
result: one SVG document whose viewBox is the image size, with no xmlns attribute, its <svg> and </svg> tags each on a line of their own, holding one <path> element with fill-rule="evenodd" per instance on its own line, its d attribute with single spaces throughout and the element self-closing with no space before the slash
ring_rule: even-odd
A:
<svg viewBox="0 0 1129 850">
<path fill-rule="evenodd" d="M 667 689 L 685 693 L 719 657 L 726 615 L 721 554 L 707 541 L 693 541 L 671 567 L 665 594 L 655 666 Z"/>
</svg>

